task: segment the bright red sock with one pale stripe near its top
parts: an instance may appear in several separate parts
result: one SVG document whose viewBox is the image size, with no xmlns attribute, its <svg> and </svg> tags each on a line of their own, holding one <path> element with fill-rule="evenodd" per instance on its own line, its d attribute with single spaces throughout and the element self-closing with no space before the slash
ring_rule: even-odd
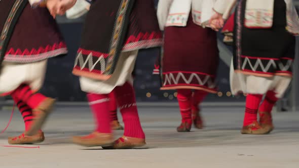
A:
<svg viewBox="0 0 299 168">
<path fill-rule="evenodd" d="M 89 93 L 87 98 L 94 115 L 96 131 L 99 133 L 111 133 L 108 94 Z"/>
</svg>

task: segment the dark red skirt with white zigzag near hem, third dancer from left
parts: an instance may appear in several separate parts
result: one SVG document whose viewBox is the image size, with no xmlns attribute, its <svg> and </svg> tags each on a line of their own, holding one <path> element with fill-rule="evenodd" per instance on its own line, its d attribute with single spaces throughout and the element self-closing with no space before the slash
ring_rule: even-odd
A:
<svg viewBox="0 0 299 168">
<path fill-rule="evenodd" d="M 216 93 L 219 51 L 216 32 L 189 16 L 186 27 L 166 27 L 162 90 L 197 89 Z"/>
</svg>

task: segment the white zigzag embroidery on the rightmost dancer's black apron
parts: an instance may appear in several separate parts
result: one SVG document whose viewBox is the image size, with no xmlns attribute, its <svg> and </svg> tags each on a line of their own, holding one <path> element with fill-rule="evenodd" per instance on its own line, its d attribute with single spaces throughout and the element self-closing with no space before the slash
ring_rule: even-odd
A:
<svg viewBox="0 0 299 168">
<path fill-rule="evenodd" d="M 254 64 L 254 66 L 253 66 L 252 63 L 251 63 L 251 61 L 250 61 L 250 59 L 246 57 L 244 59 L 243 66 L 242 66 L 243 70 L 245 69 L 247 63 L 249 64 L 250 68 L 253 71 L 256 71 L 256 69 L 258 67 L 260 67 L 261 70 L 263 70 L 263 72 L 268 72 L 268 70 L 270 69 L 271 66 L 273 66 L 275 69 L 277 68 L 277 65 L 276 65 L 276 63 L 275 63 L 274 60 L 269 60 L 269 62 L 267 63 L 267 65 L 264 66 L 263 62 L 261 62 L 261 59 L 258 58 L 258 59 L 256 59 L 256 62 Z M 279 69 L 281 71 L 287 71 L 290 68 L 291 65 L 292 65 L 292 60 L 288 60 L 287 64 L 285 66 L 282 64 L 282 62 L 278 63 L 278 67 L 279 67 Z"/>
</svg>

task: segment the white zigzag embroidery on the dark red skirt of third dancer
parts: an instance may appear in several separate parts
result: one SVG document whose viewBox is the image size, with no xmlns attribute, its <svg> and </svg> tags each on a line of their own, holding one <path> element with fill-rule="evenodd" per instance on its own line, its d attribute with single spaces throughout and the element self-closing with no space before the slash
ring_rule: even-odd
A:
<svg viewBox="0 0 299 168">
<path fill-rule="evenodd" d="M 165 74 L 165 81 L 164 81 L 163 85 L 164 86 L 166 86 L 167 84 L 168 85 L 173 85 L 173 84 L 177 85 L 181 78 L 184 80 L 185 83 L 190 84 L 194 77 L 197 79 L 200 86 L 205 86 L 207 84 L 208 88 L 215 88 L 215 85 L 211 80 L 211 76 L 209 76 L 209 75 L 206 75 L 204 80 L 201 80 L 201 78 L 198 76 L 198 74 L 191 73 L 189 79 L 186 79 L 184 74 L 181 72 L 177 73 L 176 78 L 174 77 L 173 73 Z"/>
</svg>

